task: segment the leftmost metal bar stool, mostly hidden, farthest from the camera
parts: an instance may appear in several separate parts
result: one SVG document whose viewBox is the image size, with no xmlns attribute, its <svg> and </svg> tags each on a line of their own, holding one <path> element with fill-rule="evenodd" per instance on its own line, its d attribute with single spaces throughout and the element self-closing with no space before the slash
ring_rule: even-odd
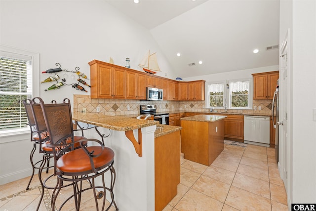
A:
<svg viewBox="0 0 316 211">
<path fill-rule="evenodd" d="M 31 130 L 31 142 L 33 142 L 33 149 L 30 153 L 30 161 L 31 161 L 31 165 L 32 165 L 32 175 L 31 175 L 30 181 L 26 187 L 26 190 L 29 190 L 31 181 L 32 181 L 34 173 L 35 173 L 35 169 L 40 169 L 39 164 L 42 162 L 42 160 L 40 160 L 40 161 L 34 163 L 34 161 L 33 161 L 34 153 L 36 151 L 37 145 L 40 145 L 40 151 L 41 151 L 41 144 L 43 142 L 45 142 L 46 140 L 48 140 L 48 134 L 47 134 L 47 130 L 42 131 L 42 132 L 38 132 L 38 129 L 36 127 L 35 120 L 34 120 L 34 117 L 32 114 L 31 100 L 30 99 L 19 100 L 19 103 L 23 103 L 23 105 L 24 105 L 26 116 L 28 118 L 28 126 L 30 127 L 30 130 Z M 47 164 L 49 164 L 49 161 Z M 47 165 L 46 173 L 48 173 L 48 168 L 49 168 L 49 166 Z"/>
</svg>

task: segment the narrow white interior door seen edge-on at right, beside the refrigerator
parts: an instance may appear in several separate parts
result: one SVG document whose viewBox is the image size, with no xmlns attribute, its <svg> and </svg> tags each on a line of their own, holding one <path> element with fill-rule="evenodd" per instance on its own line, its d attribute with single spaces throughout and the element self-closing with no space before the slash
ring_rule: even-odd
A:
<svg viewBox="0 0 316 211">
<path fill-rule="evenodd" d="M 282 133 L 280 140 L 281 140 L 281 146 L 279 149 L 280 152 L 280 158 L 282 159 L 280 161 L 280 167 L 281 167 L 281 178 L 284 181 L 284 186 L 286 189 L 286 192 L 288 192 L 288 168 L 289 168 L 289 151 L 290 151 L 290 144 L 288 139 L 288 36 L 289 33 L 287 33 L 287 36 L 282 44 L 281 48 L 281 56 L 280 56 L 280 70 L 281 70 L 281 86 L 280 86 L 280 95 L 282 96 L 282 99 L 280 101 L 281 103 L 281 109 L 280 111 L 280 117 L 279 122 L 277 124 L 280 126 L 279 131 Z"/>
</svg>

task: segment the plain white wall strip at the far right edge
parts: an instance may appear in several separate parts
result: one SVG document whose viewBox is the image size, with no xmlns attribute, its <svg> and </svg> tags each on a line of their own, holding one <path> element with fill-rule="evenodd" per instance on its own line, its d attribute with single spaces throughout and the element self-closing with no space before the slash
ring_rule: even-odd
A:
<svg viewBox="0 0 316 211">
<path fill-rule="evenodd" d="M 316 202 L 316 1 L 293 0 L 293 198 Z"/>
</svg>

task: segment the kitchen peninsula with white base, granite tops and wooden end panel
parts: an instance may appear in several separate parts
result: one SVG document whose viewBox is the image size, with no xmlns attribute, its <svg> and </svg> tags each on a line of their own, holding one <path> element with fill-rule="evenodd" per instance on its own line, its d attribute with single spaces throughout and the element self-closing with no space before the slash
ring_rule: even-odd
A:
<svg viewBox="0 0 316 211">
<path fill-rule="evenodd" d="M 98 126 L 100 133 L 108 134 L 108 129 L 111 130 L 111 135 L 105 138 L 105 146 L 110 147 L 115 152 L 114 167 L 116 170 L 116 181 L 114 185 L 114 198 L 120 211 L 154 211 L 157 210 L 157 205 L 164 205 L 167 200 L 171 200 L 176 195 L 176 192 L 166 193 L 164 190 L 177 190 L 177 184 L 180 182 L 180 129 L 176 126 L 161 126 L 158 121 L 138 120 L 136 118 L 126 116 L 107 116 L 102 114 L 82 114 L 75 112 L 73 120 L 81 123 L 87 123 Z M 157 129 L 158 127 L 158 129 Z M 159 146 L 158 141 L 160 136 L 177 137 L 170 140 L 168 150 L 163 150 L 164 146 Z M 85 130 L 84 136 L 89 138 L 100 139 L 100 136 L 93 129 Z M 171 144 L 173 143 L 173 144 Z M 170 145 L 171 144 L 171 145 Z M 174 151 L 171 151 L 174 147 Z M 161 150 L 158 150 L 161 149 Z M 163 152 L 159 154 L 159 152 Z M 172 169 L 168 166 L 172 163 L 167 158 L 167 155 L 172 155 Z M 175 156 L 178 154 L 178 156 Z M 171 156 L 171 157 L 172 157 Z M 169 162 L 157 162 L 159 159 L 168 160 Z M 168 156 L 170 159 L 170 156 Z M 175 166 L 179 167 L 173 173 L 173 181 L 166 183 L 172 187 L 163 188 L 161 183 L 165 181 L 161 178 L 157 181 L 157 170 L 173 170 Z M 159 172 L 160 175 L 167 175 L 169 172 Z M 106 175 L 105 181 L 109 182 L 110 177 Z M 102 182 L 101 179 L 97 182 Z M 155 195 L 156 192 L 156 195 Z M 158 194 L 157 194 L 158 193 Z M 171 199 L 165 198 L 168 194 Z M 109 195 L 109 194 L 108 194 Z M 168 201 L 168 202 L 169 202 Z M 159 203 L 158 203 L 159 202 Z M 167 203 L 168 203 L 167 202 Z M 165 206 L 165 205 L 164 205 Z"/>
</svg>

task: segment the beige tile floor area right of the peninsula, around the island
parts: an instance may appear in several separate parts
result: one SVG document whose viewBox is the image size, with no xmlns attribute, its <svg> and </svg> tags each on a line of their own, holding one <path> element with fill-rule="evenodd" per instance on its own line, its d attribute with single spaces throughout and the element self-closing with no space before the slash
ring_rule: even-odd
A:
<svg viewBox="0 0 316 211">
<path fill-rule="evenodd" d="M 182 155 L 180 178 L 163 211 L 288 211 L 274 148 L 225 144 L 210 167 Z"/>
</svg>

